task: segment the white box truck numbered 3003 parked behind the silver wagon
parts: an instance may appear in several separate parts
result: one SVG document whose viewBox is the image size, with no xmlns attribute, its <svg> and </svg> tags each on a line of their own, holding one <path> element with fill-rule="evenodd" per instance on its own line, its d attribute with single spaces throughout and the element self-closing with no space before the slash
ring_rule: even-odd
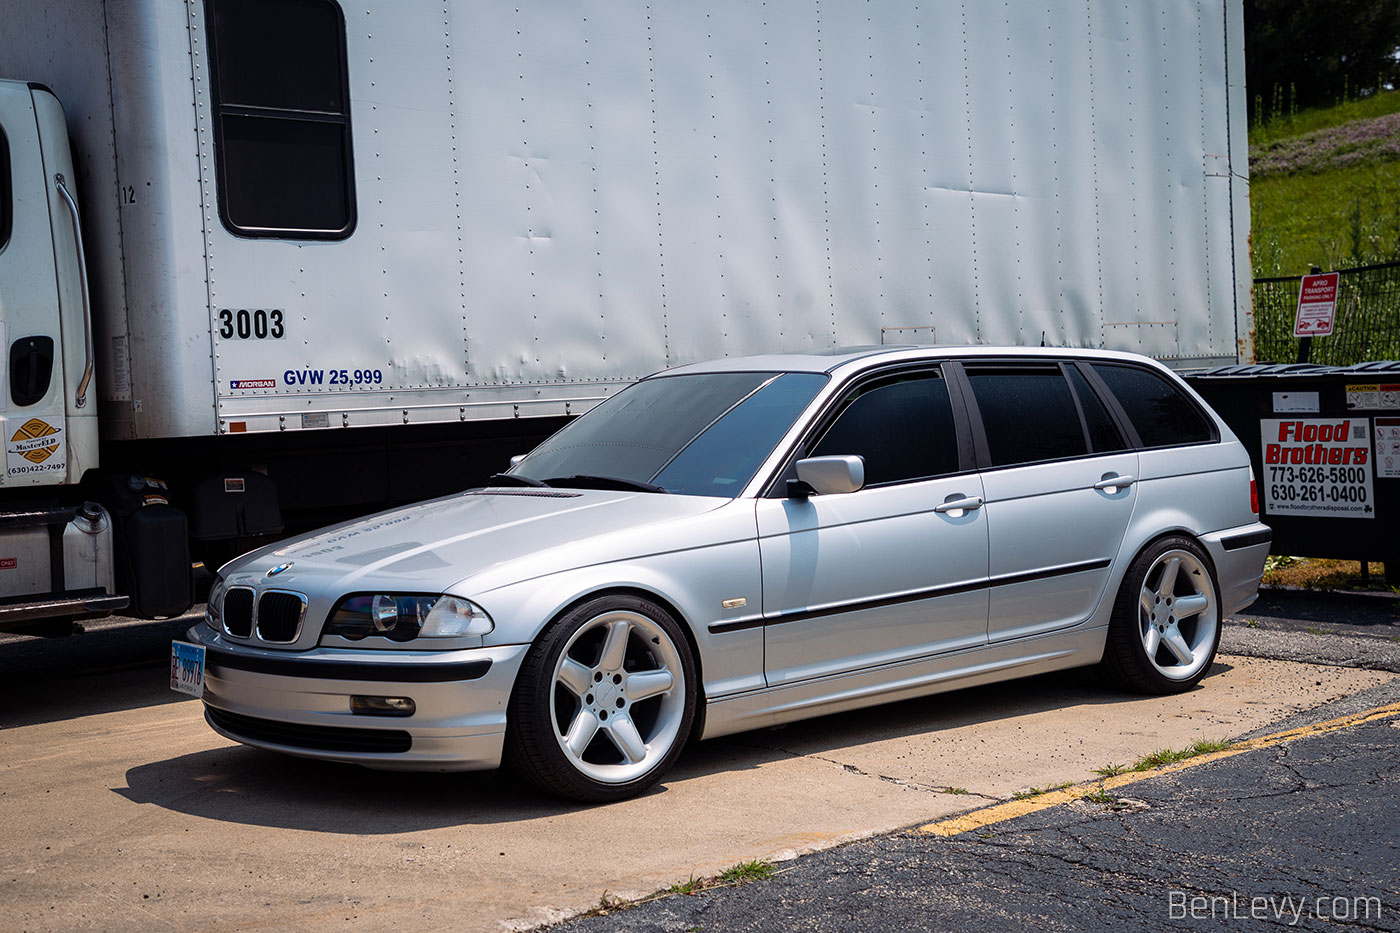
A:
<svg viewBox="0 0 1400 933">
<path fill-rule="evenodd" d="M 654 370 L 1250 357 L 1240 0 L 4 0 L 0 628 Z"/>
</svg>

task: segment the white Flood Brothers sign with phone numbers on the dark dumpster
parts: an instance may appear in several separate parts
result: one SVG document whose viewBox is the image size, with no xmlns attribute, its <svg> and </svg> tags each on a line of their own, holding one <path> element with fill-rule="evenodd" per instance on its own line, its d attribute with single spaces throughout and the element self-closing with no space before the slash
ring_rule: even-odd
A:
<svg viewBox="0 0 1400 933">
<path fill-rule="evenodd" d="M 1371 422 L 1264 419 L 1264 510 L 1271 516 L 1372 518 Z"/>
</svg>

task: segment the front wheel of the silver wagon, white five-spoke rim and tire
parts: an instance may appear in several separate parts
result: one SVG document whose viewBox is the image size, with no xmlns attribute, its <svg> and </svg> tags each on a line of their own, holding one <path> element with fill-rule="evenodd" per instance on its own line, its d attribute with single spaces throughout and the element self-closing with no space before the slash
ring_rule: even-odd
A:
<svg viewBox="0 0 1400 933">
<path fill-rule="evenodd" d="M 696 665 L 655 602 L 603 595 L 535 640 L 508 709 L 505 758 L 536 786 L 582 801 L 631 797 L 680 755 L 696 714 Z"/>
</svg>

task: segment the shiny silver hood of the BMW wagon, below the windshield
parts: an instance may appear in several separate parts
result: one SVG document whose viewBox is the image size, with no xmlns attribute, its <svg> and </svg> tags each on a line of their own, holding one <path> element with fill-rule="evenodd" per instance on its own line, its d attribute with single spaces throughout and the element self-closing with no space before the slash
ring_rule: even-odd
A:
<svg viewBox="0 0 1400 933">
<path fill-rule="evenodd" d="M 511 576 L 526 579 L 559 569 L 560 560 L 549 558 L 553 551 L 577 555 L 577 545 L 588 539 L 687 518 L 728 502 L 612 490 L 473 489 L 288 538 L 230 562 L 220 576 L 231 584 L 314 595 L 385 586 L 400 593 L 470 595 L 469 579 L 487 570 L 524 562 Z M 654 549 L 647 539 L 637 537 L 637 553 Z"/>
</svg>

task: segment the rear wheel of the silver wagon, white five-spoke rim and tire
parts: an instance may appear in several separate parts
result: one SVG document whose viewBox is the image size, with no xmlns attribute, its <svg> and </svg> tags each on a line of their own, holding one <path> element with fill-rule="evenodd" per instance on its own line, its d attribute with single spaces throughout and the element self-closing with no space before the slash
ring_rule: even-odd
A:
<svg viewBox="0 0 1400 933">
<path fill-rule="evenodd" d="M 1128 566 L 1113 604 L 1100 670 L 1142 693 L 1182 693 L 1211 667 L 1221 639 L 1221 600 L 1210 555 L 1173 535 Z"/>
</svg>

